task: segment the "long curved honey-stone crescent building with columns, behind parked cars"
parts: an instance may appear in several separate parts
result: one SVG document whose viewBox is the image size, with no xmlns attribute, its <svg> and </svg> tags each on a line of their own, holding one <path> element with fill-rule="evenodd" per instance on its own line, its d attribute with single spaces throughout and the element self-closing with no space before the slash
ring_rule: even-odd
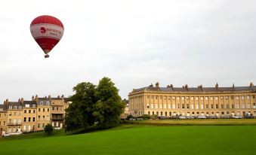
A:
<svg viewBox="0 0 256 155">
<path fill-rule="evenodd" d="M 133 116 L 256 116 L 256 87 L 149 87 L 129 93 L 129 111 Z"/>
</svg>

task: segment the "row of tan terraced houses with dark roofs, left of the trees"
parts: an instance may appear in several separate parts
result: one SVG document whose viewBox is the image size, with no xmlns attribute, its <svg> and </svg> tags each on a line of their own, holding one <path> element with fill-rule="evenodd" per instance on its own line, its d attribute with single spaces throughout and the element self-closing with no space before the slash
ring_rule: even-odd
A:
<svg viewBox="0 0 256 155">
<path fill-rule="evenodd" d="M 18 102 L 9 102 L 6 99 L 0 105 L 0 135 L 40 131 L 47 124 L 52 124 L 54 129 L 62 129 L 65 110 L 70 103 L 64 96 L 32 96 L 31 101 L 24 101 L 22 98 Z"/>
</svg>

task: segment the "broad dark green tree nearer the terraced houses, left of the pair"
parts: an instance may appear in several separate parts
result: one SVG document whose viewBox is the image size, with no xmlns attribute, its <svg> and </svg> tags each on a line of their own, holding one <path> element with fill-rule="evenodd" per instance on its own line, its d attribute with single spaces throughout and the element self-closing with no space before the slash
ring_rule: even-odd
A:
<svg viewBox="0 0 256 155">
<path fill-rule="evenodd" d="M 66 131 L 73 131 L 76 129 L 88 129 L 93 126 L 94 119 L 94 105 L 97 102 L 95 96 L 95 85 L 89 82 L 82 82 L 73 87 L 76 93 L 69 97 L 72 104 L 66 109 Z"/>
</svg>

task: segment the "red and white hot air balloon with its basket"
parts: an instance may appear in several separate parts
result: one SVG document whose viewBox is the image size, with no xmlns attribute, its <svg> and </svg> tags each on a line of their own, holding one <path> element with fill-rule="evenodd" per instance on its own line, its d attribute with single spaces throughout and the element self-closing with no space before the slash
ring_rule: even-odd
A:
<svg viewBox="0 0 256 155">
<path fill-rule="evenodd" d="M 30 32 L 37 44 L 48 58 L 48 53 L 55 47 L 63 36 L 64 26 L 56 17 L 44 15 L 36 17 L 30 24 Z"/>
</svg>

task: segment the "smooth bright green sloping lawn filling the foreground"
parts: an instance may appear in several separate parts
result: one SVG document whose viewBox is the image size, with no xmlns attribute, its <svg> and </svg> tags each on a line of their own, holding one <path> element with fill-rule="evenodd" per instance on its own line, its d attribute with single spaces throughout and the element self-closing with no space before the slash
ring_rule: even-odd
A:
<svg viewBox="0 0 256 155">
<path fill-rule="evenodd" d="M 60 134 L 61 135 L 61 134 Z M 0 141 L 1 154 L 255 154 L 256 126 L 138 126 Z"/>
</svg>

